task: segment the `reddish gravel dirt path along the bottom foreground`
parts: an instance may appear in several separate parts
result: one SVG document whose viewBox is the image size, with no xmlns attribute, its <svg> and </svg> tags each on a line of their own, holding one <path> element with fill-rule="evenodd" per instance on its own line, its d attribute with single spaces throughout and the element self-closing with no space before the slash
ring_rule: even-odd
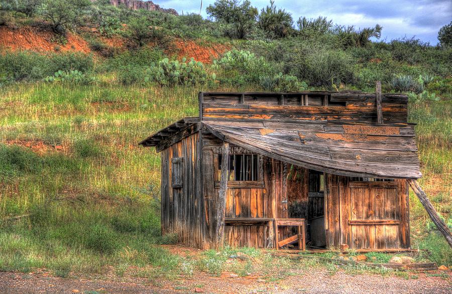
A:
<svg viewBox="0 0 452 294">
<path fill-rule="evenodd" d="M 417 274 L 417 279 L 394 276 L 350 275 L 324 270 L 303 272 L 276 282 L 222 275 L 212 277 L 196 273 L 190 279 L 154 281 L 147 279 L 75 279 L 41 274 L 0 273 L 0 293 L 193 293 L 199 287 L 203 293 L 451 293 L 452 282 L 440 277 Z M 450 276 L 449 276 L 450 277 Z"/>
</svg>

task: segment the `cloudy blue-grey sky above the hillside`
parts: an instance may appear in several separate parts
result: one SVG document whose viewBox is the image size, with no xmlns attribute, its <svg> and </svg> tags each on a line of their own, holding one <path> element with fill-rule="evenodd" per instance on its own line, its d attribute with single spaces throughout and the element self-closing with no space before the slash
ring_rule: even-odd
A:
<svg viewBox="0 0 452 294">
<path fill-rule="evenodd" d="M 163 8 L 173 8 L 179 14 L 199 13 L 201 0 L 153 0 Z M 259 11 L 269 0 L 251 0 Z M 205 8 L 214 0 L 203 0 L 201 15 L 207 18 Z M 324 16 L 333 23 L 354 25 L 356 28 L 383 26 L 380 40 L 389 42 L 398 38 L 415 36 L 431 45 L 438 43 L 439 29 L 452 21 L 452 0 L 380 0 L 380 1 L 296 1 L 275 0 L 277 8 L 292 14 L 294 23 L 299 17 Z"/>
</svg>

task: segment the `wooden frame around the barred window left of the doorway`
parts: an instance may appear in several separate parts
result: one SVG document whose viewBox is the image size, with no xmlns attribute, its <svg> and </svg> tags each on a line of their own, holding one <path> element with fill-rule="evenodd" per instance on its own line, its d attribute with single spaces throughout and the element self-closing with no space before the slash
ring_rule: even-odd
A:
<svg viewBox="0 0 452 294">
<path fill-rule="evenodd" d="M 214 186 L 215 188 L 219 188 L 220 185 L 220 181 L 218 179 L 218 174 L 220 172 L 220 169 L 218 168 L 218 160 L 219 160 L 219 155 L 221 155 L 220 153 L 214 153 L 213 154 L 213 164 L 214 169 L 215 169 L 215 173 L 214 173 Z M 245 181 L 245 180 L 228 180 L 228 187 L 230 188 L 264 188 L 265 187 L 265 183 L 263 180 L 263 156 L 259 153 L 250 153 L 250 152 L 241 152 L 241 150 L 237 150 L 237 152 L 234 153 L 230 153 L 229 156 L 234 156 L 234 155 L 254 155 L 257 156 L 257 164 L 258 166 L 256 167 L 256 171 L 257 171 L 257 180 L 251 181 Z"/>
</svg>

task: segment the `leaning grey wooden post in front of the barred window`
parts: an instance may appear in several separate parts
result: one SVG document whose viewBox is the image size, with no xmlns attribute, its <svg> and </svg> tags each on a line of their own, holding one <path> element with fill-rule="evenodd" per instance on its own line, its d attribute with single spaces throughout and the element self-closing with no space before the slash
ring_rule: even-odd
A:
<svg viewBox="0 0 452 294">
<path fill-rule="evenodd" d="M 229 143 L 221 147 L 221 178 L 216 206 L 216 249 L 223 245 L 224 214 L 226 213 L 226 194 L 228 192 Z"/>
</svg>

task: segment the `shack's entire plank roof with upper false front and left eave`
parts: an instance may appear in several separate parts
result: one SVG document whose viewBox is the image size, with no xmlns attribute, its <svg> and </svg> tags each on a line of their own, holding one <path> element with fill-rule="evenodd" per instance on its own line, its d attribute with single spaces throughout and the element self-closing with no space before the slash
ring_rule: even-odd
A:
<svg viewBox="0 0 452 294">
<path fill-rule="evenodd" d="M 207 128 L 224 141 L 306 168 L 419 178 L 407 102 L 406 95 L 357 91 L 201 92 L 199 119 L 182 119 L 140 144 L 161 151 Z"/>
</svg>

